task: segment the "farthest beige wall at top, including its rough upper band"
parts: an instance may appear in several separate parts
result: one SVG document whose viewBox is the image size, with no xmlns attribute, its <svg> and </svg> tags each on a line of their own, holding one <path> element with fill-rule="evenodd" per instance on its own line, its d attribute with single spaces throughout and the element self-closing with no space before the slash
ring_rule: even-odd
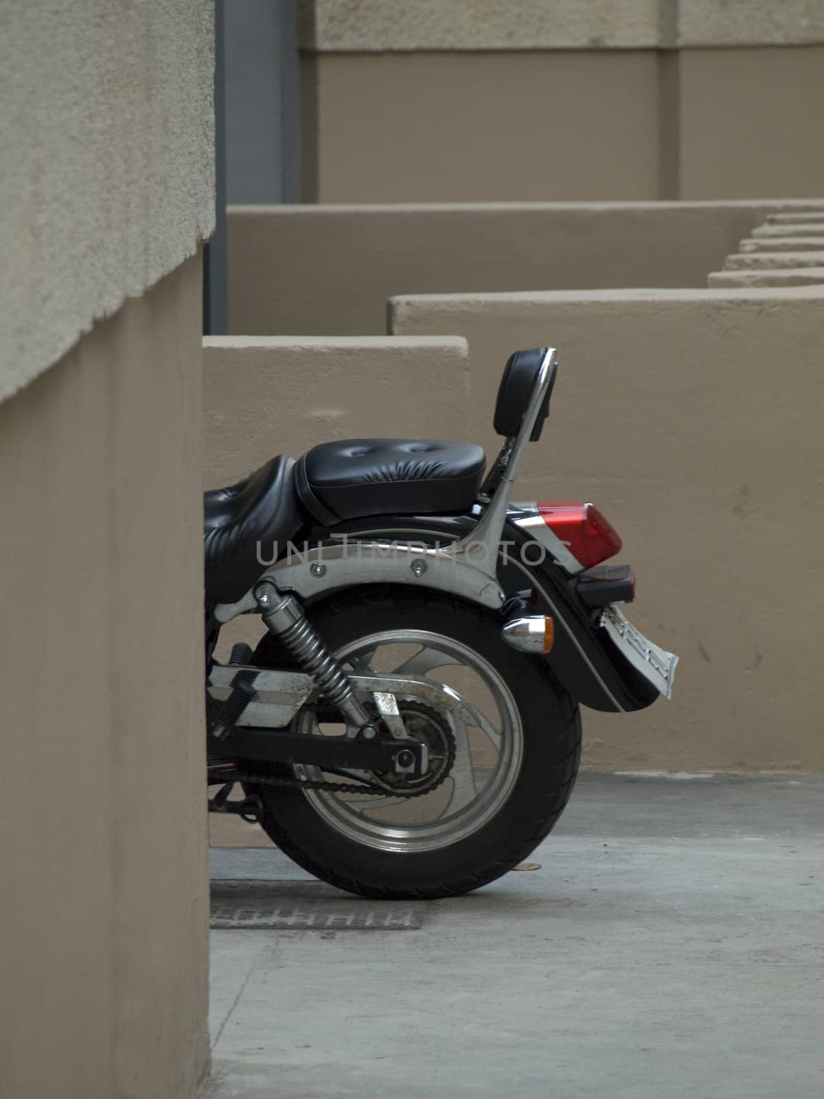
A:
<svg viewBox="0 0 824 1099">
<path fill-rule="evenodd" d="M 303 199 L 819 195 L 816 0 L 304 0 Z"/>
</svg>

